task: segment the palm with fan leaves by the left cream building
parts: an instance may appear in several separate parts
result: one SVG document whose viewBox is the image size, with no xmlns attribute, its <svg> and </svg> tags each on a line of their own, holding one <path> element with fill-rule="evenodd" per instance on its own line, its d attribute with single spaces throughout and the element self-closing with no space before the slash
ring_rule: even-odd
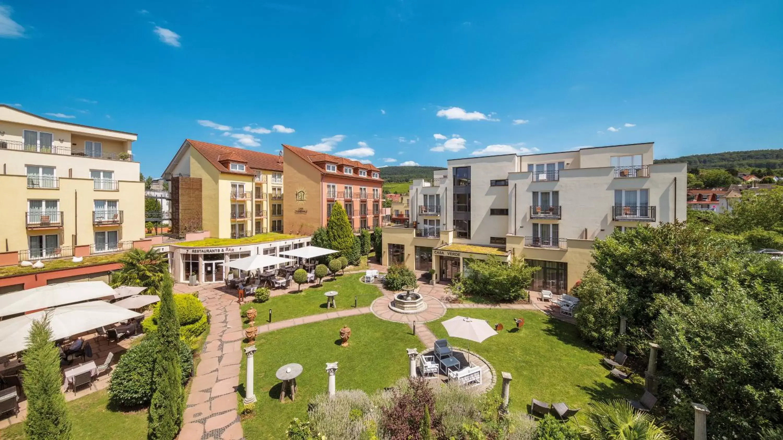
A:
<svg viewBox="0 0 783 440">
<path fill-rule="evenodd" d="M 157 249 L 132 249 L 120 258 L 122 267 L 111 277 L 111 287 L 143 286 L 143 294 L 156 295 L 168 278 L 168 257 Z"/>
</svg>

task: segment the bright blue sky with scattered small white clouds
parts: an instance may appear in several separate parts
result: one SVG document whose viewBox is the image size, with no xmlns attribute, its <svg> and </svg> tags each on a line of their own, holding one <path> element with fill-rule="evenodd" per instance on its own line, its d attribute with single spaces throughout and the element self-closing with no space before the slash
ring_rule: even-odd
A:
<svg viewBox="0 0 783 440">
<path fill-rule="evenodd" d="M 655 142 L 783 148 L 783 2 L 0 0 L 0 103 L 377 166 Z"/>
</svg>

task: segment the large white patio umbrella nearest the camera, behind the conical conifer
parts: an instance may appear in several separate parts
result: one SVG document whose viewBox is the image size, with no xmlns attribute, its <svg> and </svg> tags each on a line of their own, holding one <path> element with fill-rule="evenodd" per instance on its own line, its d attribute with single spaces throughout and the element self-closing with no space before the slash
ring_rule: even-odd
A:
<svg viewBox="0 0 783 440">
<path fill-rule="evenodd" d="M 30 334 L 33 321 L 41 319 L 45 313 L 49 313 L 52 341 L 142 316 L 141 313 L 117 307 L 106 301 L 63 305 L 29 315 L 17 316 L 0 321 L 0 356 L 24 350 L 26 348 L 25 339 Z"/>
</svg>

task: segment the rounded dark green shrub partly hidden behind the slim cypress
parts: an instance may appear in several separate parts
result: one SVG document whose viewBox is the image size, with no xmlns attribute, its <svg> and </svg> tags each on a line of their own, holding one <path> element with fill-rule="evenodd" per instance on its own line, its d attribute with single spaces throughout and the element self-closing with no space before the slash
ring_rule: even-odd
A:
<svg viewBox="0 0 783 440">
<path fill-rule="evenodd" d="M 155 335 L 150 334 L 121 356 L 109 381 L 109 399 L 113 405 L 132 408 L 150 403 L 156 346 Z M 193 373 L 193 354 L 184 341 L 179 341 L 179 365 L 185 384 Z"/>
</svg>

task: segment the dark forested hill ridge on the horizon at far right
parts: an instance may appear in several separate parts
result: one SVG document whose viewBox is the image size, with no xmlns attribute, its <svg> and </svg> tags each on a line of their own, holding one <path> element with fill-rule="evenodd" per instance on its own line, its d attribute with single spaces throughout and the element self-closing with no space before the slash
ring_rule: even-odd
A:
<svg viewBox="0 0 783 440">
<path fill-rule="evenodd" d="M 783 168 L 783 149 L 781 150 L 747 150 L 725 151 L 723 153 L 692 154 L 691 156 L 675 157 L 673 159 L 658 159 L 656 164 L 687 162 L 688 168 Z"/>
</svg>

